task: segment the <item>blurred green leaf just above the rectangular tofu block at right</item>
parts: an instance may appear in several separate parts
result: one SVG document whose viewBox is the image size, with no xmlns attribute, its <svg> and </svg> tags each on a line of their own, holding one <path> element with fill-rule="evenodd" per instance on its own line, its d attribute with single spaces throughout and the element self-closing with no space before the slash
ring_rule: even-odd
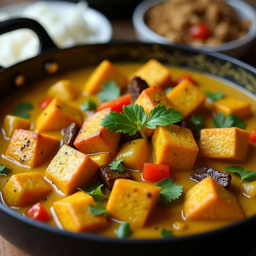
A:
<svg viewBox="0 0 256 256">
<path fill-rule="evenodd" d="M 235 114 L 229 114 L 227 117 L 224 113 L 219 113 L 214 119 L 213 124 L 216 128 L 229 128 L 229 127 L 238 127 L 240 129 L 245 128 L 245 122 Z"/>
</svg>

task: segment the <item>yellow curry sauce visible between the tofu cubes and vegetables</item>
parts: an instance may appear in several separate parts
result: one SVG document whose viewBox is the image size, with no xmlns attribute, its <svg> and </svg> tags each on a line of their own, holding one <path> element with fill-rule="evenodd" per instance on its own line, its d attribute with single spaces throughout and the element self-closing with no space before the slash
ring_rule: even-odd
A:
<svg viewBox="0 0 256 256">
<path fill-rule="evenodd" d="M 129 76 L 134 71 L 136 71 L 141 64 L 117 64 L 118 68 L 120 68 L 124 74 Z M 36 117 L 40 114 L 42 111 L 39 108 L 39 102 L 47 97 L 46 91 L 47 89 L 54 84 L 56 81 L 60 79 L 70 79 L 72 80 L 77 87 L 81 90 L 80 97 L 72 102 L 68 102 L 70 105 L 79 107 L 85 100 L 86 97 L 82 95 L 82 87 L 84 85 L 84 82 L 88 78 L 88 76 L 92 73 L 94 68 L 84 68 L 81 70 L 72 71 L 69 73 L 66 73 L 64 75 L 55 76 L 51 78 L 47 78 L 44 81 L 39 81 L 34 84 L 32 84 L 28 88 L 21 89 L 20 91 L 12 94 L 11 96 L 5 98 L 1 102 L 1 113 L 0 113 L 0 120 L 3 122 L 4 116 L 6 114 L 13 115 L 14 108 L 20 103 L 20 102 L 30 102 L 34 108 L 29 112 L 31 115 L 31 122 L 34 123 L 36 120 Z M 255 99 L 249 97 L 245 93 L 238 91 L 235 87 L 225 85 L 225 82 L 218 81 L 215 78 L 210 78 L 205 76 L 204 74 L 198 74 L 198 73 L 192 73 L 190 71 L 180 69 L 180 68 L 170 68 L 171 76 L 173 80 L 176 80 L 181 74 L 188 73 L 192 74 L 193 78 L 196 80 L 196 82 L 199 85 L 199 88 L 202 91 L 218 91 L 222 90 L 225 95 L 227 96 L 234 96 L 236 98 L 245 100 L 247 102 L 250 102 L 252 104 L 252 112 L 256 113 L 256 101 Z M 212 113 L 210 110 L 202 110 L 202 114 L 204 115 L 204 120 L 207 128 L 213 128 L 212 124 Z M 85 116 L 84 116 L 85 117 Z M 250 118 L 247 118 L 246 120 L 246 130 L 251 131 L 256 127 L 256 117 L 252 116 Z M 32 129 L 33 131 L 33 129 Z M 58 139 L 62 139 L 62 135 L 60 132 L 44 132 L 44 134 L 52 135 L 57 137 Z M 4 154 L 9 144 L 9 140 L 5 140 L 3 134 L 0 134 L 0 154 Z M 54 156 L 54 155 L 53 155 Z M 52 157 L 50 157 L 47 161 L 45 161 L 44 164 L 37 168 L 31 168 L 31 169 L 25 169 L 21 168 L 12 162 L 9 162 L 3 158 L 0 160 L 0 164 L 8 164 L 10 165 L 10 174 L 17 174 L 17 173 L 23 173 L 23 172 L 38 172 L 41 176 L 45 175 L 45 170 L 48 166 L 48 164 L 51 162 Z M 254 170 L 256 171 L 256 146 L 250 146 L 249 153 L 247 160 L 243 163 L 235 163 L 233 161 L 209 161 L 205 159 L 201 159 L 199 156 L 197 157 L 196 163 L 193 167 L 193 169 L 188 170 L 180 170 L 180 169 L 171 169 L 170 170 L 170 176 L 173 178 L 175 182 L 177 182 L 180 185 L 184 186 L 184 192 L 188 191 L 188 189 L 192 188 L 197 183 L 193 180 L 189 179 L 190 174 L 196 170 L 197 168 L 203 168 L 203 167 L 212 167 L 214 169 L 224 171 L 223 167 L 228 165 L 241 165 L 246 170 Z M 151 162 L 153 162 L 153 157 L 151 157 Z M 140 182 L 147 182 L 143 181 L 141 179 L 141 172 L 132 172 L 132 175 L 134 176 L 136 181 Z M 6 184 L 6 180 L 8 180 L 10 176 L 0 176 L 0 190 L 2 190 Z M 245 216 L 250 216 L 252 214 L 256 213 L 256 204 L 254 203 L 253 198 L 248 198 L 244 196 L 240 189 L 240 176 L 237 174 L 232 173 L 232 181 L 231 186 L 229 190 L 236 194 L 237 199 L 239 201 L 239 204 L 244 212 Z M 154 185 L 155 183 L 151 183 Z M 104 193 L 107 191 L 104 191 Z M 210 231 L 212 229 L 220 228 L 227 226 L 228 224 L 231 224 L 233 221 L 187 221 L 182 219 L 182 208 L 183 208 L 183 195 L 176 200 L 173 200 L 168 207 L 163 207 L 160 205 L 157 205 L 154 209 L 154 211 L 151 214 L 150 220 L 148 221 L 146 227 L 144 228 L 134 228 L 132 227 L 132 238 L 158 238 L 160 237 L 160 230 L 162 228 L 165 228 L 166 230 L 172 230 L 174 236 L 186 236 L 189 234 L 195 234 L 195 233 L 201 233 L 205 231 Z M 52 204 L 63 198 L 63 196 L 56 194 L 55 190 L 52 189 L 52 193 L 46 196 L 46 200 L 40 201 L 45 208 L 50 212 L 50 208 Z M 102 201 L 104 205 L 106 205 L 107 200 Z M 32 204 L 33 205 L 33 204 Z M 24 213 L 28 208 L 30 208 L 32 205 L 28 205 L 27 207 L 16 209 L 16 211 L 20 213 Z M 25 218 L 25 217 L 24 217 Z M 182 223 L 185 223 L 187 225 L 186 230 L 176 230 L 173 227 L 174 222 L 180 221 Z M 106 236 L 114 236 L 116 237 L 114 230 L 118 228 L 119 224 L 109 220 L 109 227 L 103 231 L 100 231 L 99 233 Z M 53 219 L 49 221 L 49 224 L 56 226 L 56 223 Z"/>
</svg>

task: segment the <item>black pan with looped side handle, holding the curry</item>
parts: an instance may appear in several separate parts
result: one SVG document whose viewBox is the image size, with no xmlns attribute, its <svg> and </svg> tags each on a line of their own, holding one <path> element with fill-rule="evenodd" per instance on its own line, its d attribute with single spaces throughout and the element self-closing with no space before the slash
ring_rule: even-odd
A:
<svg viewBox="0 0 256 256">
<path fill-rule="evenodd" d="M 145 62 L 156 58 L 169 65 L 192 68 L 215 75 L 256 92 L 256 69 L 239 60 L 219 53 L 204 53 L 179 46 L 109 43 L 77 46 L 59 50 L 41 25 L 30 19 L 15 19 L 0 23 L 0 34 L 18 28 L 34 30 L 40 39 L 39 55 L 10 68 L 0 68 L 0 98 L 15 90 L 24 90 L 31 82 L 51 76 L 46 63 L 59 64 L 58 73 L 98 65 L 102 60 L 113 62 Z M 239 75 L 241 74 L 241 76 Z M 23 75 L 25 84 L 17 87 L 15 77 Z M 0 235 L 32 256 L 112 255 L 248 255 L 255 246 L 252 230 L 256 216 L 246 218 L 226 228 L 204 234 L 166 239 L 114 239 L 89 233 L 71 233 L 37 222 L 0 204 Z M 252 254 L 252 255 L 255 255 Z"/>
</svg>

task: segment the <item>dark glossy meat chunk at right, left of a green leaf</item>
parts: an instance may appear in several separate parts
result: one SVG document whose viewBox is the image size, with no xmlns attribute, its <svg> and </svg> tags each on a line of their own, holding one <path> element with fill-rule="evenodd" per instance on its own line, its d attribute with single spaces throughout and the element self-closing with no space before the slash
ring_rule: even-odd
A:
<svg viewBox="0 0 256 256">
<path fill-rule="evenodd" d="M 201 169 L 197 169 L 195 172 L 191 173 L 190 179 L 196 180 L 200 182 L 201 180 L 204 180 L 207 177 L 211 177 L 213 180 L 216 180 L 219 182 L 223 187 L 229 188 L 231 184 L 231 174 L 228 172 L 220 172 L 218 170 L 204 167 Z"/>
</svg>

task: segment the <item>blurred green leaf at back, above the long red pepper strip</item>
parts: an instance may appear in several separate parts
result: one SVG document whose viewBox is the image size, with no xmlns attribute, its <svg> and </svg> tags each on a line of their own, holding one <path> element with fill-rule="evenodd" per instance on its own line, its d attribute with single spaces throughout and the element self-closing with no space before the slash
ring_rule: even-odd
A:
<svg viewBox="0 0 256 256">
<path fill-rule="evenodd" d="M 97 94 L 100 102 L 114 100 L 121 95 L 120 87 L 115 81 L 107 81 L 101 86 L 101 92 Z"/>
</svg>

